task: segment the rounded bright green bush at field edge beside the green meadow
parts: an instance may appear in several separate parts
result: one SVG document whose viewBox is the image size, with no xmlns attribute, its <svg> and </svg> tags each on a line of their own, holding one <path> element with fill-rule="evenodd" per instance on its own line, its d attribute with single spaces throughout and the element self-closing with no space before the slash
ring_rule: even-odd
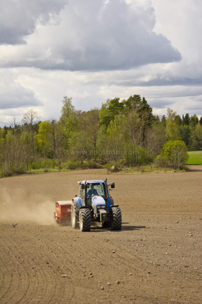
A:
<svg viewBox="0 0 202 304">
<path fill-rule="evenodd" d="M 164 144 L 157 160 L 161 161 L 161 157 L 166 158 L 174 169 L 179 170 L 186 164 L 189 156 L 187 153 L 187 147 L 183 141 L 170 140 Z"/>
</svg>

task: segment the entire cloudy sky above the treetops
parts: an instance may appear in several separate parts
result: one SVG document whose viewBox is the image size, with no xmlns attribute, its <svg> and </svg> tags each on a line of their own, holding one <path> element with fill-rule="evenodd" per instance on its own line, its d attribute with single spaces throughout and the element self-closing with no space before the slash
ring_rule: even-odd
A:
<svg viewBox="0 0 202 304">
<path fill-rule="evenodd" d="M 200 0 L 1 0 L 0 126 L 139 94 L 202 115 Z"/>
</svg>

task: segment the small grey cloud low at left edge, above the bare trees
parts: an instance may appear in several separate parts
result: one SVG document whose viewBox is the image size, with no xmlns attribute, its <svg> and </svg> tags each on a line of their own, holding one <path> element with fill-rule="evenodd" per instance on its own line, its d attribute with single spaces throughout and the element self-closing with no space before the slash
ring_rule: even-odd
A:
<svg viewBox="0 0 202 304">
<path fill-rule="evenodd" d="M 33 91 L 23 88 L 20 84 L 12 84 L 9 91 L 0 92 L 0 109 L 14 109 L 21 107 L 30 107 L 43 105 Z"/>
</svg>

